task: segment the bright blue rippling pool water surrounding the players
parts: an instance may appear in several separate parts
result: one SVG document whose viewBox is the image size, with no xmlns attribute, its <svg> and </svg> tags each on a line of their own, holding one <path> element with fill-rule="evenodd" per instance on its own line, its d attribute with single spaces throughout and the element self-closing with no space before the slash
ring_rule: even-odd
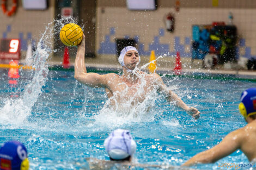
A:
<svg viewBox="0 0 256 170">
<path fill-rule="evenodd" d="M 202 113 L 195 121 L 160 95 L 148 100 L 153 106 L 148 113 L 138 109 L 132 112 L 137 116 L 120 116 L 103 107 L 104 89 L 81 85 L 73 71 L 51 70 L 41 86 L 31 83 L 31 72 L 21 71 L 14 85 L 8 83 L 8 71 L 0 70 L 0 143 L 24 143 L 31 169 L 87 169 L 87 157 L 109 160 L 103 141 L 117 128 L 131 131 L 137 162 L 179 166 L 246 125 L 238 111 L 239 98 L 243 90 L 256 86 L 240 80 L 162 77 L 186 104 Z M 192 168 L 220 169 L 220 163 L 249 162 L 237 150 L 216 163 Z"/>
</svg>

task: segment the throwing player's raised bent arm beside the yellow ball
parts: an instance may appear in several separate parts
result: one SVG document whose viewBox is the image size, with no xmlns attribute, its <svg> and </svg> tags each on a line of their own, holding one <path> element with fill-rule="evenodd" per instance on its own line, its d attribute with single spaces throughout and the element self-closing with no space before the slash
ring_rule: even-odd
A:
<svg viewBox="0 0 256 170">
<path fill-rule="evenodd" d="M 83 35 L 83 40 L 77 47 L 75 60 L 75 79 L 81 83 L 92 87 L 103 87 L 106 84 L 106 75 L 97 73 L 87 73 L 86 65 L 84 64 L 84 54 L 86 53 L 86 37 Z"/>
</svg>

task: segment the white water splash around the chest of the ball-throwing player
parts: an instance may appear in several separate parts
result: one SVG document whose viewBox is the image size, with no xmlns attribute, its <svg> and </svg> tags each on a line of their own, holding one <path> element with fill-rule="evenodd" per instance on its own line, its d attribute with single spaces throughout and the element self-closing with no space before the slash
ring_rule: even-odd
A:
<svg viewBox="0 0 256 170">
<path fill-rule="evenodd" d="M 163 57 L 159 56 L 156 60 L 161 58 Z M 118 84 L 118 86 L 125 86 L 125 88 L 121 92 L 114 92 L 99 113 L 93 116 L 96 123 L 113 128 L 131 123 L 152 122 L 156 116 L 162 114 L 163 109 L 156 109 L 155 106 L 156 100 L 163 98 L 162 95 L 157 93 L 159 83 L 152 78 L 153 83 L 151 82 L 150 87 L 147 87 L 149 86 L 148 74 L 141 71 L 149 64 L 150 62 L 140 69 L 136 67 L 132 71 L 139 79 L 138 85 L 135 87 L 129 87 L 125 83 Z M 134 94 L 131 95 L 130 91 L 133 91 Z"/>
</svg>

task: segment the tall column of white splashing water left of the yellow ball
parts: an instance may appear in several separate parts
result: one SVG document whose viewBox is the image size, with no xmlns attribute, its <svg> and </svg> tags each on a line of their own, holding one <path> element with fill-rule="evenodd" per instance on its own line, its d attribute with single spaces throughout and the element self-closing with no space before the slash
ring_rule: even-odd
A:
<svg viewBox="0 0 256 170">
<path fill-rule="evenodd" d="M 59 34 L 59 30 L 68 21 L 75 22 L 72 18 L 62 18 L 61 20 L 55 20 L 47 24 L 36 46 L 32 65 L 35 69 L 28 71 L 28 74 L 26 74 L 26 77 L 32 77 L 32 80 L 22 82 L 22 84 L 27 85 L 17 90 L 22 91 L 20 97 L 15 99 L 8 98 L 3 104 L 3 107 L 0 108 L 1 124 L 22 125 L 27 121 L 27 117 L 31 115 L 32 107 L 38 100 L 41 89 L 47 81 L 48 65 L 46 61 L 54 51 L 52 37 Z"/>
</svg>

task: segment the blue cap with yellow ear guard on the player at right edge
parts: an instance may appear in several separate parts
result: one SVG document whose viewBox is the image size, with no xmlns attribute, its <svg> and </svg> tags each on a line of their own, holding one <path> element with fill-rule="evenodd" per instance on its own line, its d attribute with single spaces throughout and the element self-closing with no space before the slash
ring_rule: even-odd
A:
<svg viewBox="0 0 256 170">
<path fill-rule="evenodd" d="M 243 117 L 256 114 L 256 88 L 250 88 L 242 92 L 239 111 Z"/>
</svg>

